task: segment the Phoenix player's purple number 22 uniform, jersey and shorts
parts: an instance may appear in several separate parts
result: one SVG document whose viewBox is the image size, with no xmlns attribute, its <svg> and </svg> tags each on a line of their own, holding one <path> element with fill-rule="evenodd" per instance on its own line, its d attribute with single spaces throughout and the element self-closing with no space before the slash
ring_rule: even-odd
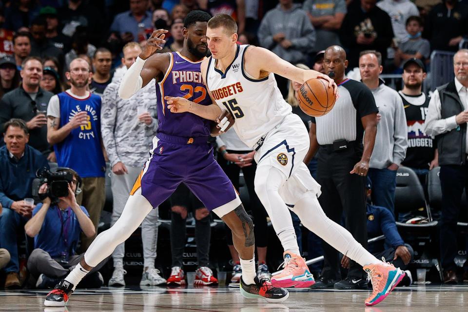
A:
<svg viewBox="0 0 468 312">
<path fill-rule="evenodd" d="M 171 113 L 164 100 L 165 96 L 171 96 L 212 104 L 202 81 L 202 60 L 192 62 L 178 52 L 170 56 L 168 70 L 156 84 L 158 132 L 150 157 L 130 194 L 141 188 L 141 195 L 156 207 L 184 183 L 206 208 L 219 208 L 216 213 L 222 216 L 241 202 L 213 156 L 213 147 L 208 142 L 211 121 L 192 113 Z"/>
</svg>

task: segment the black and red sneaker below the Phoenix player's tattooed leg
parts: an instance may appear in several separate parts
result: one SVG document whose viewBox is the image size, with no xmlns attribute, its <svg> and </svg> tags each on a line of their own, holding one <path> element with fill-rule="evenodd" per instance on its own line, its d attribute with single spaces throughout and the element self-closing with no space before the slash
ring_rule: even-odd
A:
<svg viewBox="0 0 468 312">
<path fill-rule="evenodd" d="M 268 278 L 254 278 L 255 284 L 246 285 L 240 278 L 240 293 L 245 298 L 265 299 L 270 303 L 280 303 L 288 299 L 289 292 L 284 288 L 274 287 Z"/>
</svg>

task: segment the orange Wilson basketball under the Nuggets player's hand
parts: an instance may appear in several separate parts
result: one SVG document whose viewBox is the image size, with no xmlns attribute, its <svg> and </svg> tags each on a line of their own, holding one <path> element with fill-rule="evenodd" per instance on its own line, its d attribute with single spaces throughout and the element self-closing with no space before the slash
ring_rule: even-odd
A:
<svg viewBox="0 0 468 312">
<path fill-rule="evenodd" d="M 328 81 L 312 78 L 304 82 L 297 93 L 299 107 L 312 117 L 324 116 L 335 105 L 336 97 L 333 88 L 328 87 Z"/>
</svg>

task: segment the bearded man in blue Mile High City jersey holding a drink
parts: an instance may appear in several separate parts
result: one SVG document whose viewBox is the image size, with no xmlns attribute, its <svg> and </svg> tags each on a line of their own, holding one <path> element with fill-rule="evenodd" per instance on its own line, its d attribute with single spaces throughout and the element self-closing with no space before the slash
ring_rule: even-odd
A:
<svg viewBox="0 0 468 312">
<path fill-rule="evenodd" d="M 89 64 L 74 59 L 65 73 L 70 89 L 53 96 L 47 109 L 47 140 L 54 145 L 60 167 L 72 168 L 82 177 L 82 193 L 78 203 L 85 206 L 98 230 L 99 217 L 105 203 L 104 161 L 101 140 L 101 98 L 88 89 Z M 96 234 L 82 235 L 85 251 Z"/>
</svg>

